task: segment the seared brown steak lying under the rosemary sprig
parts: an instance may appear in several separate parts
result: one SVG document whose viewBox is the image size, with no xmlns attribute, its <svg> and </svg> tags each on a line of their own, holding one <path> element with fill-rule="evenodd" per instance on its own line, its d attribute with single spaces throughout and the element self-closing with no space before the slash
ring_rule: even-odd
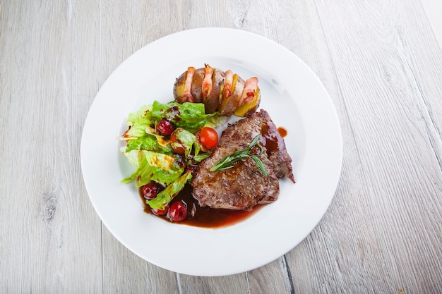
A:
<svg viewBox="0 0 442 294">
<path fill-rule="evenodd" d="M 248 147 L 258 134 L 262 135 L 260 144 L 265 151 L 259 159 L 268 176 L 257 173 L 258 167 L 250 158 L 237 161 L 232 169 L 210 171 L 223 157 Z M 227 126 L 210 157 L 201 161 L 196 168 L 191 185 L 193 197 L 201 206 L 251 210 L 257 204 L 277 200 L 280 191 L 278 178 L 283 177 L 294 182 L 292 158 L 267 111 L 261 109 Z"/>
</svg>

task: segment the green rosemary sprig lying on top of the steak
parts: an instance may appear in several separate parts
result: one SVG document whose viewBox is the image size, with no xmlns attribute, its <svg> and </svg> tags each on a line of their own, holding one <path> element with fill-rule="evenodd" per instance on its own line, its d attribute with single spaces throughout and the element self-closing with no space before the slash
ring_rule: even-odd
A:
<svg viewBox="0 0 442 294">
<path fill-rule="evenodd" d="M 250 145 L 248 147 L 246 147 L 245 149 L 242 149 L 242 150 L 237 150 L 237 151 L 233 152 L 232 154 L 227 155 L 227 157 L 224 157 L 223 159 L 218 161 L 212 167 L 212 169 L 210 169 L 210 171 L 225 171 L 226 169 L 232 169 L 233 164 L 235 162 L 237 162 L 239 160 L 245 160 L 247 158 L 251 158 L 251 159 L 253 159 L 253 161 L 255 161 L 256 165 L 261 170 L 261 173 L 263 173 L 264 176 L 268 176 L 267 171 L 265 171 L 263 161 L 261 161 L 261 159 L 259 159 L 259 156 L 261 154 L 263 154 L 263 152 L 264 152 L 263 146 L 261 146 L 261 144 L 258 143 L 258 140 L 260 137 L 261 137 L 261 134 L 258 134 L 253 139 L 253 141 L 250 143 Z M 250 152 L 250 150 L 255 145 L 261 149 L 261 152 L 259 152 L 259 154 L 252 154 Z"/>
</svg>

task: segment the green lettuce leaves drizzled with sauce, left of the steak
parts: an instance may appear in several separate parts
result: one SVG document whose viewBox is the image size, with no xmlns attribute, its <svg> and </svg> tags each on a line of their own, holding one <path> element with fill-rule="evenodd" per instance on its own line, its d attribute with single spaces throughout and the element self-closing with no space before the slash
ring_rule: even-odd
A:
<svg viewBox="0 0 442 294">
<path fill-rule="evenodd" d="M 160 135 L 157 124 L 167 118 L 174 125 L 174 133 L 170 137 Z M 119 140 L 126 141 L 121 152 L 136 170 L 121 183 L 135 181 L 137 187 L 147 185 L 151 181 L 159 183 L 162 190 L 157 197 L 146 203 L 156 209 L 164 209 L 165 205 L 175 197 L 192 175 L 186 168 L 210 154 L 202 152 L 195 135 L 198 130 L 208 125 L 215 127 L 225 123 L 226 118 L 216 112 L 205 114 L 204 104 L 179 104 L 169 102 L 162 104 L 153 102 L 142 106 L 138 111 L 129 114 L 126 130 Z M 178 154 L 176 151 L 181 150 Z"/>
</svg>

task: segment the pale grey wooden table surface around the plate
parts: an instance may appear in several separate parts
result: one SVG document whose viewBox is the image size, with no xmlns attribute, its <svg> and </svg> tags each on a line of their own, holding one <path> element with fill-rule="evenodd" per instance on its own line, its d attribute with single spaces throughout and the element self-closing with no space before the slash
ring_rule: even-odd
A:
<svg viewBox="0 0 442 294">
<path fill-rule="evenodd" d="M 318 226 L 232 276 L 134 255 L 95 213 L 80 167 L 102 83 L 146 44 L 196 27 L 292 51 L 342 128 L 340 182 Z M 439 0 L 1 0 L 0 128 L 0 293 L 442 293 Z"/>
</svg>

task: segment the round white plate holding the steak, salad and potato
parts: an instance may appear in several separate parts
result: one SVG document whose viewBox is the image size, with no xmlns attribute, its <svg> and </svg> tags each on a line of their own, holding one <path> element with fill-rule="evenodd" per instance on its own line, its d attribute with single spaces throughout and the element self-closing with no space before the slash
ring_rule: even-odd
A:
<svg viewBox="0 0 442 294">
<path fill-rule="evenodd" d="M 217 229 L 145 214 L 138 191 L 120 183 L 133 169 L 116 139 L 130 112 L 154 99 L 171 101 L 175 78 L 188 66 L 204 63 L 259 78 L 261 108 L 288 130 L 285 142 L 297 180 L 280 180 L 276 202 L 245 221 Z M 90 107 L 80 152 L 90 200 L 123 245 L 170 271 L 223 276 L 272 262 L 313 230 L 338 185 L 342 138 L 328 93 L 292 52 L 249 32 L 203 28 L 158 39 L 121 63 Z"/>
</svg>

